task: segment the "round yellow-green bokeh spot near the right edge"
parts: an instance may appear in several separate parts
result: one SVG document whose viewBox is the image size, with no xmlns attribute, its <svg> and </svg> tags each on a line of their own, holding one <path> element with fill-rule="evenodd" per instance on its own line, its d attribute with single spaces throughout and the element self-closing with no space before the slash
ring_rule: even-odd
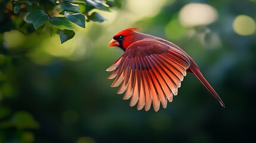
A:
<svg viewBox="0 0 256 143">
<path fill-rule="evenodd" d="M 239 35 L 251 35 L 255 32 L 255 21 L 248 15 L 238 15 L 233 21 L 233 30 Z"/>
</svg>

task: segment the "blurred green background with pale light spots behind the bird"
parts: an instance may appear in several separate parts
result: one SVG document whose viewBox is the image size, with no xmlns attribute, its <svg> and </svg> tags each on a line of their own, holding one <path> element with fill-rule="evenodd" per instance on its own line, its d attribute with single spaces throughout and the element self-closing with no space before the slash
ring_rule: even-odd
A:
<svg viewBox="0 0 256 143">
<path fill-rule="evenodd" d="M 255 142 L 255 10 L 255 0 L 129 0 L 63 44 L 1 33 L 0 142 Z M 105 71 L 122 54 L 109 41 L 129 27 L 183 48 L 226 108 L 190 73 L 166 109 L 129 107 Z"/>
</svg>

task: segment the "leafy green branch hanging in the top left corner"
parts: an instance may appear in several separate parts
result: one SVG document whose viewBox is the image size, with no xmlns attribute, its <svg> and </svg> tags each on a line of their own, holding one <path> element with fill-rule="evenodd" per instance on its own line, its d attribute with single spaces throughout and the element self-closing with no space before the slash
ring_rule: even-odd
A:
<svg viewBox="0 0 256 143">
<path fill-rule="evenodd" d="M 107 20 L 100 13 L 90 11 L 110 11 L 110 7 L 120 7 L 120 3 L 120 0 L 19 0 L 6 2 L 5 9 L 13 11 L 8 14 L 9 17 L 23 15 L 24 21 L 32 24 L 35 30 L 54 26 L 61 43 L 64 43 L 75 36 L 74 24 L 85 28 L 86 22 L 102 23 Z M 10 4 L 11 8 L 8 7 Z"/>
</svg>

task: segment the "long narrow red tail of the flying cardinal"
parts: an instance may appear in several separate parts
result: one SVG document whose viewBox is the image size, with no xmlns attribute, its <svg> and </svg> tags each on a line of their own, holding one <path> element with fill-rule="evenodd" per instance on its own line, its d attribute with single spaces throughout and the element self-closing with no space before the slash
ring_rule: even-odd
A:
<svg viewBox="0 0 256 143">
<path fill-rule="evenodd" d="M 209 92 L 220 102 L 221 106 L 225 108 L 224 102 L 221 100 L 221 98 L 218 96 L 217 92 L 214 91 L 212 86 L 206 81 L 205 77 L 203 77 L 203 74 L 198 68 L 198 65 L 196 65 L 195 61 L 189 57 L 190 60 L 190 67 L 187 69 L 190 73 L 195 74 L 195 76 L 200 80 L 200 82 L 205 86 L 206 89 L 208 89 Z"/>
</svg>

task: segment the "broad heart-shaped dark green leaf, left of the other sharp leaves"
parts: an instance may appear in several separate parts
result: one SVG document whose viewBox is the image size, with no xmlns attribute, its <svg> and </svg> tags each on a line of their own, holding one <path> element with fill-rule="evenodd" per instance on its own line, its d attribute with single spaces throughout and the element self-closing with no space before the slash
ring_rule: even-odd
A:
<svg viewBox="0 0 256 143">
<path fill-rule="evenodd" d="M 33 11 L 26 17 L 27 23 L 32 23 L 35 30 L 38 29 L 38 27 L 47 23 L 48 20 L 49 16 L 45 14 L 43 10 Z"/>
</svg>

